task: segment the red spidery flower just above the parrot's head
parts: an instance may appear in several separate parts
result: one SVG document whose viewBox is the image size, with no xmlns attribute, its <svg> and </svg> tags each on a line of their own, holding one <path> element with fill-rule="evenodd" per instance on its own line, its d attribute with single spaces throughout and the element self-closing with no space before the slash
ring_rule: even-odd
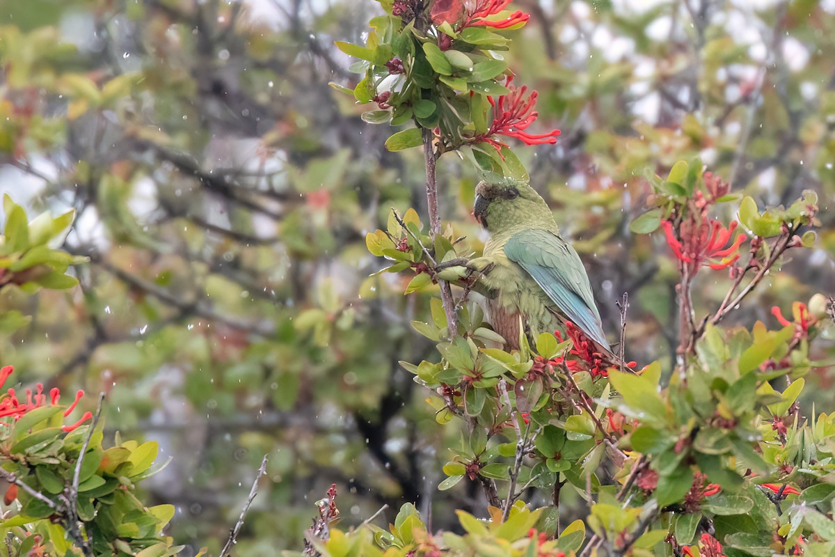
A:
<svg viewBox="0 0 835 557">
<path fill-rule="evenodd" d="M 484 141 L 493 145 L 499 152 L 507 145 L 493 139 L 493 135 L 513 137 L 527 145 L 556 143 L 559 129 L 552 129 L 547 134 L 529 134 L 525 131 L 539 116 L 539 113 L 534 110 L 539 93 L 531 91 L 528 94 L 526 85 L 517 89 L 512 85 L 513 80 L 514 76 L 508 76 L 504 84 L 509 89 L 508 94 L 501 95 L 498 100 L 493 97 L 487 98 L 493 106 L 493 123 L 490 124 L 487 133 L 474 136 L 473 142 Z"/>
</svg>

